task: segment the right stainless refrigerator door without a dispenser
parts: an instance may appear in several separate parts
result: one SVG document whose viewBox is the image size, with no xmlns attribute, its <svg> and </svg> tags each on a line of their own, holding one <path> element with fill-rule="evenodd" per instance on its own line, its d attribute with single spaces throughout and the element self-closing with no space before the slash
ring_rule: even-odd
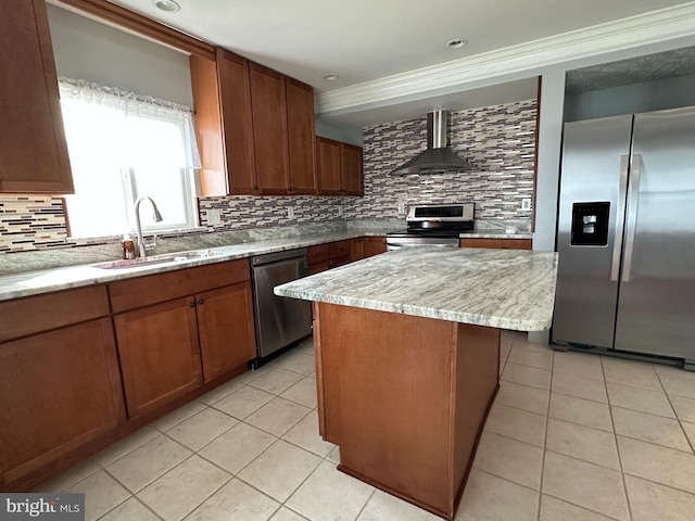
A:
<svg viewBox="0 0 695 521">
<path fill-rule="evenodd" d="M 615 346 L 692 360 L 695 110 L 637 114 L 632 163 Z"/>
</svg>

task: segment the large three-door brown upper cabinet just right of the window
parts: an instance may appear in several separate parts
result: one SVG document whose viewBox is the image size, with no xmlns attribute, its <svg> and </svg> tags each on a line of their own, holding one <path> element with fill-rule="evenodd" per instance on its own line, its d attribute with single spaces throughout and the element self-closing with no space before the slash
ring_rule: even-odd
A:
<svg viewBox="0 0 695 521">
<path fill-rule="evenodd" d="M 223 49 L 190 62 L 203 195 L 316 193 L 313 89 Z"/>
</svg>

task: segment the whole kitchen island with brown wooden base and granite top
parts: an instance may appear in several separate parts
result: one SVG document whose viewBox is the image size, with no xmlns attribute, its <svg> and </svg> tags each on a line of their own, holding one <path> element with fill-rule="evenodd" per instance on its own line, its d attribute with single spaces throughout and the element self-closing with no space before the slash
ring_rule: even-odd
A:
<svg viewBox="0 0 695 521">
<path fill-rule="evenodd" d="M 498 387 L 501 329 L 551 327 L 555 253 L 412 247 L 300 279 L 339 469 L 453 520 Z"/>
</svg>

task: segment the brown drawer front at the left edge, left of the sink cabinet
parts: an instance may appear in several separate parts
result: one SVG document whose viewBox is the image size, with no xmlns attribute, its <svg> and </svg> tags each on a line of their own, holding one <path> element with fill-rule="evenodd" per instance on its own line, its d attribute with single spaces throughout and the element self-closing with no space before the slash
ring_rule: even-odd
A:
<svg viewBox="0 0 695 521">
<path fill-rule="evenodd" d="M 105 285 L 0 302 L 0 342 L 109 316 Z"/>
</svg>

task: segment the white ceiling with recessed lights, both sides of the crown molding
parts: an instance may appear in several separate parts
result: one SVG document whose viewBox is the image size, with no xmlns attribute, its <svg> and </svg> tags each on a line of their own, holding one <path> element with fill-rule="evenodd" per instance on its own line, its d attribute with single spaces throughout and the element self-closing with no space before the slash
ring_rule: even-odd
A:
<svg viewBox="0 0 695 521">
<path fill-rule="evenodd" d="M 586 27 L 695 5 L 685 0 L 177 0 L 180 11 L 167 13 L 151 0 L 112 1 L 305 81 L 319 97 L 502 49 L 514 51 L 529 42 L 541 40 L 542 47 L 543 39 Z M 446 47 L 456 38 L 468 43 Z M 327 81 L 327 74 L 338 79 Z M 364 126 L 412 117 L 416 111 L 460 110 L 534 94 L 531 78 L 358 110 L 343 115 L 341 123 Z"/>
</svg>

